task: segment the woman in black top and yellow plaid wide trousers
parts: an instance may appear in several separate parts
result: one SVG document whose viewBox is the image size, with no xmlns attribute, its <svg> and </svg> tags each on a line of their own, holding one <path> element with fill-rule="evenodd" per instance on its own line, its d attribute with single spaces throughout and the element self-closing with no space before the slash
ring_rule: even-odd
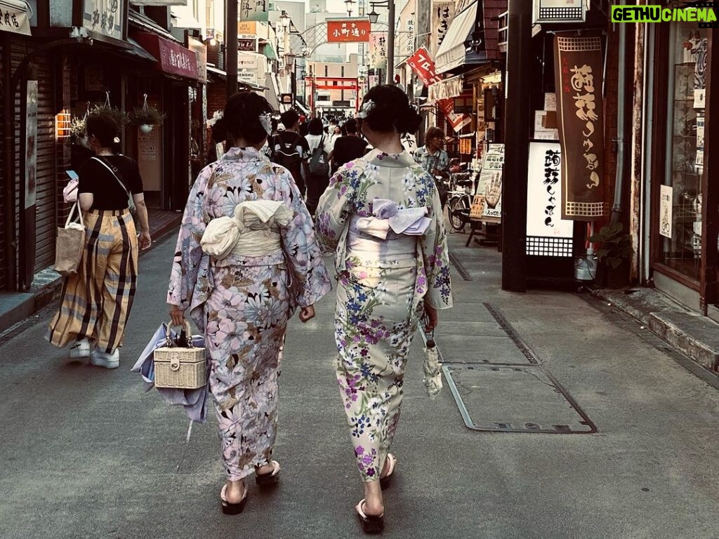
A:
<svg viewBox="0 0 719 539">
<path fill-rule="evenodd" d="M 145 193 L 137 162 L 116 153 L 118 126 L 108 114 L 91 114 L 86 144 L 94 152 L 78 171 L 78 204 L 85 212 L 85 249 L 78 272 L 64 278 L 60 310 L 45 336 L 70 348 L 70 358 L 96 367 L 120 364 L 125 326 L 137 285 L 137 254 L 152 244 Z M 137 208 L 140 230 L 129 211 Z"/>
</svg>

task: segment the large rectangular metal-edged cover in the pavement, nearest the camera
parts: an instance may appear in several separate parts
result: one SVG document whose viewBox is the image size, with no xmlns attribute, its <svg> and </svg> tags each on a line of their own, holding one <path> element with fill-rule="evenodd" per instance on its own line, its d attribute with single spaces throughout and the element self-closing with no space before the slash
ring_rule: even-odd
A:
<svg viewBox="0 0 719 539">
<path fill-rule="evenodd" d="M 537 367 L 445 363 L 464 423 L 472 430 L 594 433 L 594 423 L 548 372 Z"/>
</svg>

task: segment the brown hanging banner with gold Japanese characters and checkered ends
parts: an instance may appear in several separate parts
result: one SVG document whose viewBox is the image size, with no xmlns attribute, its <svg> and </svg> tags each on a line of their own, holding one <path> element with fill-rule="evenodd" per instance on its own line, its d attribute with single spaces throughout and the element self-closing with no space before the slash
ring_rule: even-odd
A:
<svg viewBox="0 0 719 539">
<path fill-rule="evenodd" d="M 554 38 L 562 144 L 562 218 L 594 221 L 604 208 L 602 38 Z"/>
</svg>

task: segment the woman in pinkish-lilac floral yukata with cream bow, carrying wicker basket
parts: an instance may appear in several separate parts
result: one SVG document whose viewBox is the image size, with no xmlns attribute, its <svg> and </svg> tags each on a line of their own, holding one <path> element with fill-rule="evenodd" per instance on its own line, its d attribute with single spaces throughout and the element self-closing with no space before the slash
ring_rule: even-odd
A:
<svg viewBox="0 0 719 539">
<path fill-rule="evenodd" d="M 225 513 L 242 512 L 244 478 L 278 481 L 278 374 L 288 318 L 331 290 L 312 220 L 292 175 L 260 152 L 272 108 L 255 93 L 229 98 L 214 133 L 232 144 L 205 167 L 188 199 L 168 303 L 173 323 L 184 312 L 205 333 L 226 484 Z M 219 125 L 218 125 L 219 124 Z"/>
</svg>

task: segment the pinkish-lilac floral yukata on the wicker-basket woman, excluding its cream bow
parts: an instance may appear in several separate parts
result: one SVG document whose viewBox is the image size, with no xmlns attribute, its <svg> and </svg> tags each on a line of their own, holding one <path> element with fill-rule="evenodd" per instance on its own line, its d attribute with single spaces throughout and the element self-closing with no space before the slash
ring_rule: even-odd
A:
<svg viewBox="0 0 719 539">
<path fill-rule="evenodd" d="M 213 218 L 242 201 L 283 201 L 282 249 L 262 257 L 204 254 Z M 288 319 L 331 290 L 311 217 L 292 175 L 255 149 L 232 148 L 200 172 L 191 190 L 170 275 L 168 303 L 189 310 L 205 333 L 209 387 L 229 479 L 267 464 L 277 432 L 278 375 Z"/>
</svg>

